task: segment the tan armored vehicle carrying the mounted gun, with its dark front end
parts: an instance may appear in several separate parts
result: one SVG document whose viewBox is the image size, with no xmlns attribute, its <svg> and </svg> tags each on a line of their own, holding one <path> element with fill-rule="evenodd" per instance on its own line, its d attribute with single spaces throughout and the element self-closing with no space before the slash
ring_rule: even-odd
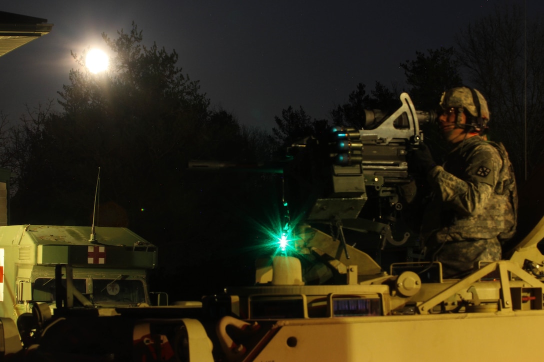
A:
<svg viewBox="0 0 544 362">
<path fill-rule="evenodd" d="M 415 235 L 399 226 L 409 224 L 400 221 L 410 210 L 399 190 L 410 184 L 407 150 L 422 140 L 418 120 L 432 115 L 418 112 L 404 93 L 401 102 L 373 126 L 333 130 L 351 146 L 333 141 L 322 152 L 317 140 L 295 145 L 302 163 L 285 167 L 286 176 L 307 170 L 313 160 L 311 172 L 326 180 L 310 175 L 302 180 L 304 190 L 293 189 L 314 197 L 311 206 L 298 222 L 285 218 L 270 253 L 256 260 L 254 285 L 205 296 L 201 308 L 116 308 L 107 316 L 90 306 L 58 308 L 48 321 L 39 318 L 38 303 L 38 338 L 23 353 L 4 328 L 4 346 L 13 352 L 6 355 L 146 361 L 534 358 L 543 336 L 544 255 L 537 244 L 544 238 L 544 218 L 518 235 L 505 251 L 508 258 L 480 263 L 465 278 L 444 279 L 440 263 L 418 261 Z M 347 152 L 330 152 L 331 145 Z M 406 261 L 387 268 L 377 263 L 361 250 L 375 240 L 384 252 L 402 251 Z M 68 278 L 66 290 L 73 290 L 70 284 Z"/>
</svg>

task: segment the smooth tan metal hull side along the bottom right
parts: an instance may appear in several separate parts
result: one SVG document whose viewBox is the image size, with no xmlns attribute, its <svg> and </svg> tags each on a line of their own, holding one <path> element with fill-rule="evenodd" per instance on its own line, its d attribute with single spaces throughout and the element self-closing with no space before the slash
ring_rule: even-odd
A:
<svg viewBox="0 0 544 362">
<path fill-rule="evenodd" d="M 519 361 L 540 349 L 544 311 L 280 321 L 255 361 Z M 294 346 L 293 346 L 294 345 Z"/>
</svg>

